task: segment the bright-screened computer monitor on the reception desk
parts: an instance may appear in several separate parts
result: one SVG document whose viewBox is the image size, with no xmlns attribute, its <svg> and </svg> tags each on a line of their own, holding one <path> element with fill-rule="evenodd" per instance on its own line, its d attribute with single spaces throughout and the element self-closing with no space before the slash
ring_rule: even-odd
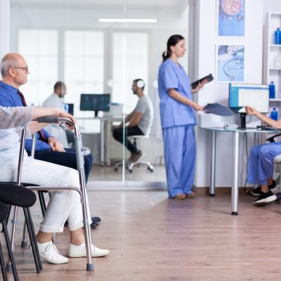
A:
<svg viewBox="0 0 281 281">
<path fill-rule="evenodd" d="M 240 113 L 241 127 L 245 128 L 246 105 L 261 113 L 269 112 L 269 85 L 230 83 L 228 105 L 233 112 Z"/>
</svg>

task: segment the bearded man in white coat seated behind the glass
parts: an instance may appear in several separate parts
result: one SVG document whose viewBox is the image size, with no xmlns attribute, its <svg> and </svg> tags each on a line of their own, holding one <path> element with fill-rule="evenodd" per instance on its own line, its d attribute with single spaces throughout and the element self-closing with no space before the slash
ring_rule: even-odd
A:
<svg viewBox="0 0 281 281">
<path fill-rule="evenodd" d="M 67 93 L 67 87 L 62 81 L 57 81 L 53 86 L 53 93 L 42 103 L 43 107 L 57 107 L 65 110 L 65 103 L 63 98 Z M 66 110 L 67 111 L 67 110 Z M 73 115 L 73 113 L 69 112 Z M 64 130 L 59 124 L 49 124 L 45 130 L 51 136 L 56 138 L 64 148 L 69 148 L 69 143 L 74 143 L 74 133 L 69 130 Z"/>
</svg>

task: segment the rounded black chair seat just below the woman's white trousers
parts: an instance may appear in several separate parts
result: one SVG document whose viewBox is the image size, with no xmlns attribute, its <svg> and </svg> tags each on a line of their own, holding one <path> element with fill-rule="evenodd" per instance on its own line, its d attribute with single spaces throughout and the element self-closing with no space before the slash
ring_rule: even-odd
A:
<svg viewBox="0 0 281 281">
<path fill-rule="evenodd" d="M 36 202 L 36 195 L 32 190 L 15 183 L 0 183 L 0 201 L 19 207 L 31 207 Z"/>
</svg>

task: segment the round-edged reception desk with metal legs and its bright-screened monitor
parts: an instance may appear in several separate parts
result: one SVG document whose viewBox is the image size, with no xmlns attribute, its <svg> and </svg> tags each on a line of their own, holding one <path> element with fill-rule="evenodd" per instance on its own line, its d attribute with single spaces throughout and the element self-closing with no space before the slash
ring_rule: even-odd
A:
<svg viewBox="0 0 281 281">
<path fill-rule="evenodd" d="M 261 113 L 269 112 L 269 86 L 263 84 L 229 84 L 229 100 L 228 105 L 235 113 L 240 114 L 240 127 L 235 129 L 224 129 L 223 127 L 203 127 L 212 133 L 211 144 L 211 166 L 210 166 L 210 188 L 209 194 L 215 195 L 216 185 L 216 133 L 232 133 L 233 155 L 232 155 L 232 184 L 231 184 L 231 214 L 238 214 L 238 191 L 239 191 L 239 149 L 240 149 L 240 133 L 254 133 L 255 145 L 258 144 L 259 133 L 278 132 L 275 128 L 264 128 L 263 126 L 255 126 L 254 128 L 246 127 L 246 110 L 245 107 L 254 107 Z"/>
</svg>

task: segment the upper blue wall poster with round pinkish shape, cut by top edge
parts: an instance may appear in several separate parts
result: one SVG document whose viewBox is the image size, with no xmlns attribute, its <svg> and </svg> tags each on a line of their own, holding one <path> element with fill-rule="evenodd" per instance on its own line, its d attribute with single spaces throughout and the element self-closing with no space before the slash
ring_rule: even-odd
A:
<svg viewBox="0 0 281 281">
<path fill-rule="evenodd" d="M 246 0 L 218 0 L 218 36 L 245 36 Z"/>
</svg>

